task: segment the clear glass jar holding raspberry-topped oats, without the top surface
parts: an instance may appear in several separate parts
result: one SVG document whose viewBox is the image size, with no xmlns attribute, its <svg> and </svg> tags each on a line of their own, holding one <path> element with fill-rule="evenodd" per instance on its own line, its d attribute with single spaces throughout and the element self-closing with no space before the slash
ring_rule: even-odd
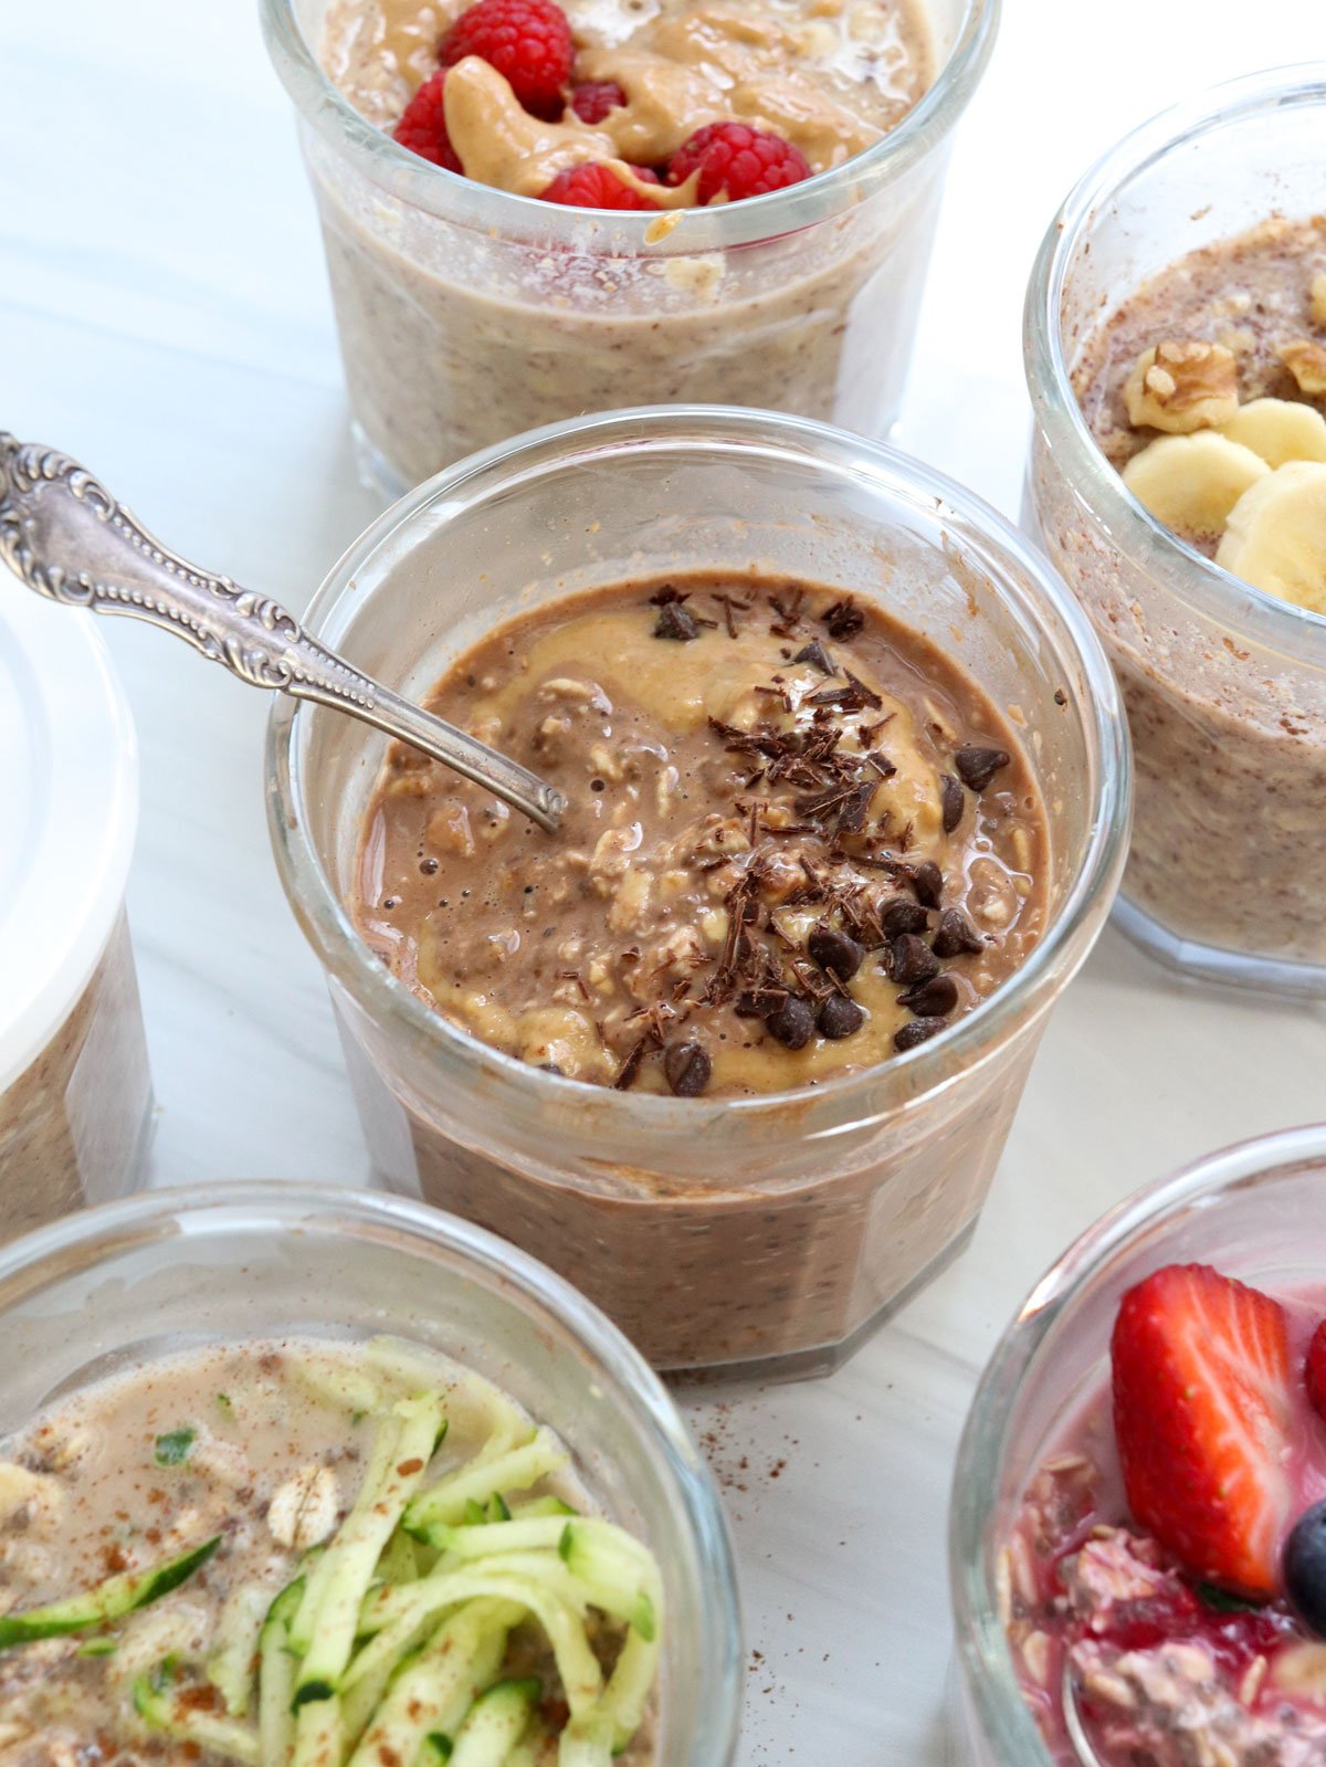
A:
<svg viewBox="0 0 1326 1767">
<path fill-rule="evenodd" d="M 709 399 L 882 435 L 896 419 L 953 125 L 999 0 L 930 0 L 921 102 L 833 171 L 656 217 L 559 209 L 444 171 L 318 62 L 329 0 L 263 0 L 322 216 L 366 482 L 396 497 L 578 412 Z"/>
</svg>

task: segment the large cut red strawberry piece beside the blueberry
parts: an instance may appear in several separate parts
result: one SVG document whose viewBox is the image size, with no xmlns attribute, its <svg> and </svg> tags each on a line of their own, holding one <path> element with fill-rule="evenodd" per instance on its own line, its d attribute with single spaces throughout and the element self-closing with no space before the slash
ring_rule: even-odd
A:
<svg viewBox="0 0 1326 1767">
<path fill-rule="evenodd" d="M 1204 1263 L 1132 1288 L 1110 1346 L 1114 1433 L 1133 1518 L 1197 1578 L 1280 1587 L 1289 1523 L 1289 1322 Z"/>
</svg>

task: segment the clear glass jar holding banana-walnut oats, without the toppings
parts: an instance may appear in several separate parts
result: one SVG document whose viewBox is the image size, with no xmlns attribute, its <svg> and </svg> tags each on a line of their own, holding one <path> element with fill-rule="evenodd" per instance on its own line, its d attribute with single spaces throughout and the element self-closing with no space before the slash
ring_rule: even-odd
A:
<svg viewBox="0 0 1326 1767">
<path fill-rule="evenodd" d="M 1220 87 L 1128 136 L 1055 217 L 1027 293 L 1029 525 L 1123 686 L 1137 815 L 1119 924 L 1216 981 L 1326 995 L 1326 618 L 1163 528 L 1096 447 L 1084 341 L 1185 253 L 1322 203 L 1326 67 Z"/>
</svg>

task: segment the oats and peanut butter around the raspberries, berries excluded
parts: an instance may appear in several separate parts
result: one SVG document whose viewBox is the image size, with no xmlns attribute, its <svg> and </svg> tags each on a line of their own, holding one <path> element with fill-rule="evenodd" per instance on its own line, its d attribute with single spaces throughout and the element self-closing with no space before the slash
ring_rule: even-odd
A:
<svg viewBox="0 0 1326 1767">
<path fill-rule="evenodd" d="M 391 129 L 461 11 L 338 0 L 324 65 L 370 122 Z M 626 104 L 594 125 L 569 108 L 539 120 L 502 74 L 467 57 L 446 90 L 447 134 L 467 177 L 537 196 L 580 161 L 663 164 L 704 124 L 727 118 L 781 136 L 824 171 L 888 133 L 934 78 L 918 0 L 571 0 L 566 12 L 575 80 L 615 81 Z"/>
</svg>

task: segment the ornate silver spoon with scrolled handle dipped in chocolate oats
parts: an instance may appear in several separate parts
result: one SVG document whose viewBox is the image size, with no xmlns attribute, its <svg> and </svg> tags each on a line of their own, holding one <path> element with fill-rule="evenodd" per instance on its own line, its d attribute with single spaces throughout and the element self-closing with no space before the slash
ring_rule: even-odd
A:
<svg viewBox="0 0 1326 1767">
<path fill-rule="evenodd" d="M 39 595 L 163 626 L 251 687 L 348 712 L 557 832 L 555 786 L 352 668 L 279 603 L 166 551 L 78 461 L 5 431 L 0 557 Z"/>
</svg>

